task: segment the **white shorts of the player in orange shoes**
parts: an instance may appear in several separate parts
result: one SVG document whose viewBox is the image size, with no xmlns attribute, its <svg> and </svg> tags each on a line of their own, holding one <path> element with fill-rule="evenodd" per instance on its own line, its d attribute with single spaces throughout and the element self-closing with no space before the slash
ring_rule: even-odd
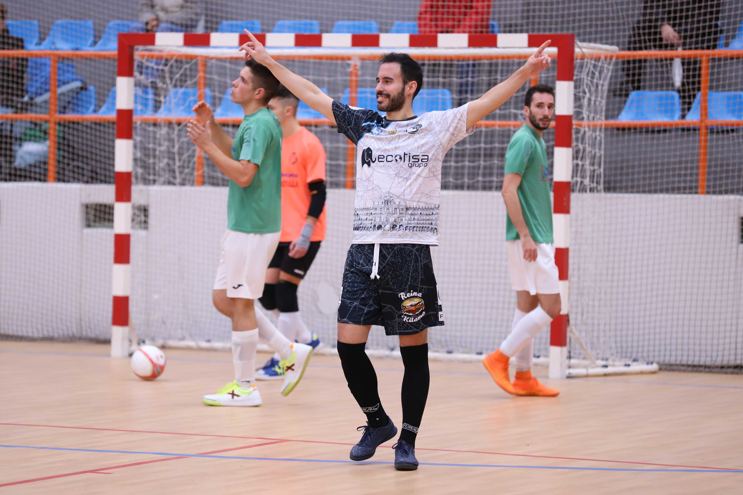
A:
<svg viewBox="0 0 743 495">
<path fill-rule="evenodd" d="M 536 261 L 524 259 L 521 240 L 507 240 L 511 288 L 531 295 L 559 294 L 559 275 L 554 244 L 536 243 Z"/>
</svg>

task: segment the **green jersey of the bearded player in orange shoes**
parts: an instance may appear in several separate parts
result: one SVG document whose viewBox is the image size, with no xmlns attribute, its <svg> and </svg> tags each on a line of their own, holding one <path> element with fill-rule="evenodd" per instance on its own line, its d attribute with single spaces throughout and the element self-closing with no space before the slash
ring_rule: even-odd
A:
<svg viewBox="0 0 743 495">
<path fill-rule="evenodd" d="M 528 125 L 516 131 L 508 143 L 505 173 L 521 176 L 517 191 L 531 238 L 535 243 L 554 242 L 547 145 Z M 506 240 L 518 238 L 519 232 L 506 215 Z"/>
</svg>

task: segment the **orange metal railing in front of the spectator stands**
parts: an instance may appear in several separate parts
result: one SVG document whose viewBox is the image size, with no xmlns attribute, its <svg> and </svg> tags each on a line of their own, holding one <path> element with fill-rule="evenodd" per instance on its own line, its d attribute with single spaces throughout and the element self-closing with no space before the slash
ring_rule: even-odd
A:
<svg viewBox="0 0 743 495">
<path fill-rule="evenodd" d="M 192 53 L 154 53 L 152 51 L 142 52 L 142 55 L 148 56 L 149 58 L 162 56 L 169 58 L 178 59 L 189 59 L 198 61 L 198 95 L 199 98 L 204 97 L 204 90 L 207 86 L 207 56 L 192 54 Z M 71 115 L 71 114 L 59 114 L 57 108 L 57 63 L 59 59 L 115 59 L 117 53 L 115 51 L 65 51 L 65 50 L 0 50 L 0 58 L 39 58 L 44 57 L 51 60 L 51 72 L 50 72 L 50 97 L 49 97 L 49 113 L 48 114 L 0 114 L 0 121 L 2 120 L 20 120 L 20 121 L 32 121 L 32 122 L 48 122 L 49 123 L 49 155 L 48 155 L 48 182 L 54 182 L 56 180 L 56 144 L 57 144 L 57 130 L 56 124 L 58 122 L 115 122 L 116 117 L 114 116 L 102 116 L 102 115 Z M 499 59 L 499 60 L 516 60 L 526 59 L 528 54 L 524 53 L 509 53 L 509 54 L 494 54 L 494 55 L 417 55 L 416 59 L 421 61 L 434 61 L 434 60 L 484 60 L 484 59 Z M 576 53 L 576 59 L 594 58 L 599 57 L 599 54 L 593 53 Z M 358 62 L 362 60 L 377 60 L 377 55 L 354 55 L 353 57 L 347 55 L 331 55 L 331 54 L 315 54 L 315 55 L 279 55 L 276 59 L 313 59 L 313 60 L 344 60 L 351 62 L 351 71 L 349 74 L 349 88 L 351 88 L 351 105 L 356 103 L 356 92 L 358 88 L 358 77 L 359 77 L 359 66 Z M 603 127 L 603 128 L 699 128 L 699 144 L 698 144 L 698 193 L 705 194 L 707 191 L 707 146 L 709 137 L 710 126 L 720 127 L 743 127 L 742 120 L 710 120 L 709 119 L 709 108 L 708 108 L 708 96 L 710 90 L 710 59 L 743 59 L 743 50 L 652 50 L 652 51 L 620 51 L 616 53 L 616 59 L 618 60 L 629 60 L 629 59 L 700 59 L 701 60 L 701 112 L 698 120 L 653 120 L 653 121 L 616 121 L 616 120 L 597 120 L 597 121 L 574 121 L 573 126 L 576 128 L 583 127 Z M 242 59 L 241 55 L 229 57 L 228 59 Z M 530 80 L 530 84 L 536 84 L 536 78 Z M 156 117 L 156 116 L 140 116 L 134 117 L 134 122 L 160 122 L 160 123 L 184 123 L 189 120 L 189 117 Z M 241 119 L 217 119 L 220 124 L 231 124 L 239 125 Z M 326 119 L 307 119 L 301 120 L 302 125 L 331 125 Z M 477 127 L 479 128 L 515 128 L 519 127 L 521 122 L 518 121 L 507 121 L 507 120 L 483 120 L 478 122 Z M 354 161 L 355 161 L 355 150 L 354 145 L 351 142 L 348 143 L 346 150 L 346 170 L 345 170 L 345 186 L 347 188 L 353 188 L 354 183 Z M 195 185 L 201 186 L 204 183 L 204 156 L 201 152 L 196 155 L 196 169 L 195 169 Z"/>
</svg>

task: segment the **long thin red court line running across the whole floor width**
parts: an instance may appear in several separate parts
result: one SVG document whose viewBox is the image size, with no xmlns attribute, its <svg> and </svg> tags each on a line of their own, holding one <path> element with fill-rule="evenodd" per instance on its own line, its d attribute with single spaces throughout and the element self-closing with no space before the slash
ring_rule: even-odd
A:
<svg viewBox="0 0 743 495">
<path fill-rule="evenodd" d="M 71 430 L 97 430 L 97 431 L 120 431 L 122 433 L 154 433 L 158 435 L 182 435 L 182 436 L 209 436 L 213 438 L 224 439 L 250 439 L 250 440 L 276 440 L 279 442 L 300 442 L 310 444 L 325 445 L 354 445 L 345 442 L 324 442 L 322 440 L 296 440 L 296 439 L 271 439 L 263 436 L 237 436 L 237 435 L 210 435 L 208 433 L 178 433 L 172 431 L 147 431 L 147 430 L 120 430 L 117 428 L 94 428 L 85 426 L 60 426 L 56 424 L 25 424 L 25 423 L 0 423 L 7 426 L 33 426 L 45 428 L 68 428 Z M 380 445 L 382 448 L 391 448 L 387 445 Z M 739 471 L 739 468 L 712 468 L 710 466 L 689 466 L 683 464 L 661 464 L 659 462 L 637 462 L 637 461 L 614 461 L 611 459 L 588 459 L 584 457 L 562 457 L 562 456 L 536 456 L 528 453 L 507 453 L 507 452 L 484 452 L 481 450 L 455 450 L 446 448 L 421 448 L 415 450 L 430 450 L 432 452 L 457 452 L 457 453 L 484 453 L 490 456 L 512 456 L 512 457 L 532 457 L 535 459 L 563 459 L 568 461 L 587 461 L 587 462 L 615 462 L 617 464 L 637 464 L 645 466 L 663 466 L 666 468 L 695 468 L 695 469 L 718 469 L 720 471 Z M 2 485 L 0 485 L 2 486 Z"/>
</svg>

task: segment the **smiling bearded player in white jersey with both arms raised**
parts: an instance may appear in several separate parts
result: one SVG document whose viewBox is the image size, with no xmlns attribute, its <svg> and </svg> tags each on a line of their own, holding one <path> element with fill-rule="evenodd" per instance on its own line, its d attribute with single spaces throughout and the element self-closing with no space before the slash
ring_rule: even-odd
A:
<svg viewBox="0 0 743 495">
<path fill-rule="evenodd" d="M 251 33 L 242 45 L 247 58 L 261 62 L 293 94 L 319 111 L 357 145 L 354 237 L 343 272 L 338 306 L 338 355 L 348 388 L 366 414 L 364 433 L 351 448 L 362 461 L 392 439 L 398 428 L 377 392 L 377 375 L 364 347 L 371 325 L 398 335 L 405 373 L 402 431 L 395 469 L 418 468 L 415 439 L 429 390 L 428 328 L 444 324 L 430 246 L 438 245 L 441 163 L 456 142 L 499 108 L 522 85 L 549 67 L 539 47 L 522 68 L 486 94 L 459 108 L 413 113 L 423 86 L 418 62 L 405 53 L 387 53 L 377 74 L 376 111 L 349 107 L 273 60 Z"/>
</svg>

